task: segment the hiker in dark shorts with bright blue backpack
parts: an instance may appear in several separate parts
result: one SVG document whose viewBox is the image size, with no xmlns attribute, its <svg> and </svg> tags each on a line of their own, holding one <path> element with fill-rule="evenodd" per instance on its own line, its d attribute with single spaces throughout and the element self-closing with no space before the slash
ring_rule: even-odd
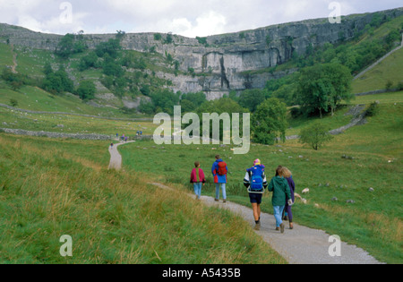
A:
<svg viewBox="0 0 403 282">
<path fill-rule="evenodd" d="M 264 189 L 267 188 L 266 175 L 264 174 L 264 166 L 260 159 L 253 162 L 253 167 L 246 169 L 244 177 L 244 185 L 248 189 L 249 199 L 251 200 L 253 209 L 253 218 L 256 226 L 255 230 L 261 230 L 261 204 Z"/>
</svg>

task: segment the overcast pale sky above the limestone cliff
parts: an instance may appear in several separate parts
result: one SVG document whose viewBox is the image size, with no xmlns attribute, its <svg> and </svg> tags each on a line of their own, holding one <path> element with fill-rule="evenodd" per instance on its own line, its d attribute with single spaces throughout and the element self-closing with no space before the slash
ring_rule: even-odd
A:
<svg viewBox="0 0 403 282">
<path fill-rule="evenodd" d="M 194 38 L 400 6 L 402 0 L 0 0 L 0 22 L 58 34 L 124 30 Z"/>
</svg>

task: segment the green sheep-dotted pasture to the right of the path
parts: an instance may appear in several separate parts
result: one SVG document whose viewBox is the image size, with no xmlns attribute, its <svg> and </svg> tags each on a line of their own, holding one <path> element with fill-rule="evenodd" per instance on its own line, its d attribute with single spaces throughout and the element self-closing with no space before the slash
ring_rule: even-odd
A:
<svg viewBox="0 0 403 282">
<path fill-rule="evenodd" d="M 382 97 L 385 96 L 379 98 L 382 100 Z M 371 98 L 378 99 L 377 96 Z M 305 187 L 311 189 L 306 196 L 308 204 L 298 201 L 294 207 L 297 223 L 340 235 L 342 240 L 363 247 L 381 261 L 401 263 L 402 98 L 401 93 L 394 94 L 392 100 L 396 101 L 396 106 L 395 102 L 381 104 L 379 115 L 369 118 L 368 124 L 337 136 L 320 151 L 297 141 L 287 141 L 281 148 L 254 145 L 249 154 L 234 156 L 229 147 L 156 146 L 144 141 L 121 149 L 124 165 L 136 171 L 153 172 L 161 181 L 192 189 L 188 178 L 193 162 L 199 160 L 209 176 L 209 184 L 203 192 L 213 195 L 210 166 L 219 153 L 230 170 L 229 199 L 248 206 L 242 181 L 244 169 L 252 167 L 253 159 L 262 159 L 268 175 L 279 165 L 287 166 L 294 172 L 296 192 L 301 193 Z M 343 159 L 343 154 L 355 159 Z M 369 192 L 370 187 L 375 191 Z M 331 201 L 333 197 L 339 201 Z M 347 204 L 347 200 L 354 200 L 356 204 Z M 319 208 L 315 208 L 315 203 Z M 262 209 L 271 212 L 270 194 L 266 194 Z"/>
</svg>

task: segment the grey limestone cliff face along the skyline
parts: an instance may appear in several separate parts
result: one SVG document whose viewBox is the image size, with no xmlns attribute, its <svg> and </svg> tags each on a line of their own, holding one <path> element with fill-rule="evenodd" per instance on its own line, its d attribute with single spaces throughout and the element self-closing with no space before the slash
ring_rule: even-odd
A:
<svg viewBox="0 0 403 282">
<path fill-rule="evenodd" d="M 380 13 L 393 19 L 403 15 L 403 8 Z M 294 55 L 303 55 L 307 47 L 353 38 L 373 20 L 373 15 L 347 16 L 339 24 L 332 24 L 328 19 L 299 21 L 199 39 L 169 35 L 172 43 L 167 43 L 168 35 L 156 39 L 154 33 L 126 34 L 122 47 L 140 52 L 153 48 L 163 56 L 170 54 L 179 62 L 182 73 L 193 69 L 195 75 L 157 75 L 173 81 L 173 90 L 204 91 L 212 99 L 230 90 L 262 89 L 266 81 L 295 71 L 274 73 L 271 67 L 287 63 Z M 84 36 L 90 48 L 115 37 L 115 34 Z M 62 37 L 3 24 L 0 40 L 4 38 L 14 45 L 55 50 Z"/>
</svg>

